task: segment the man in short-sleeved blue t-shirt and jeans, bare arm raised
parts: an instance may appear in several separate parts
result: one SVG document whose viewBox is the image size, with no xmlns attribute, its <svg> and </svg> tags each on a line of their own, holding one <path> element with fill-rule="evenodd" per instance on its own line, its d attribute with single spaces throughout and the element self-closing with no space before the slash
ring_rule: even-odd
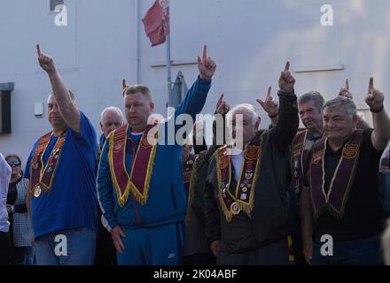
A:
<svg viewBox="0 0 390 283">
<path fill-rule="evenodd" d="M 97 236 L 97 136 L 77 108 L 50 56 L 38 61 L 51 80 L 48 119 L 43 135 L 28 157 L 28 207 L 38 265 L 93 264 Z"/>
</svg>

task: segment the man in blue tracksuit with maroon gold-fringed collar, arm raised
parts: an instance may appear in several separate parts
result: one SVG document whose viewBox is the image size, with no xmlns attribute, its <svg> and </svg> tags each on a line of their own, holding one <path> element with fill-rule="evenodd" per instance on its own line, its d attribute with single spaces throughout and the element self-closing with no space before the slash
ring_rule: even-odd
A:
<svg viewBox="0 0 390 283">
<path fill-rule="evenodd" d="M 206 46 L 198 66 L 199 78 L 174 118 L 190 114 L 195 119 L 206 103 L 216 68 Z M 128 125 L 109 135 L 98 169 L 98 199 L 118 264 L 180 264 L 187 205 L 182 149 L 176 143 L 167 144 L 169 122 L 158 131 L 159 137 L 161 128 L 166 132 L 165 143 L 149 142 L 147 136 L 155 136 L 151 135 L 155 127 L 148 125 L 154 108 L 149 88 L 129 86 L 124 96 Z"/>
</svg>

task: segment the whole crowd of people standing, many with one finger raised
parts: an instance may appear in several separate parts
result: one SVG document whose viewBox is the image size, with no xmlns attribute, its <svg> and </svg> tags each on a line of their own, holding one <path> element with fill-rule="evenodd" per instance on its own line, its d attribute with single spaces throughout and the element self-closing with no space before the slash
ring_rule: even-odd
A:
<svg viewBox="0 0 390 283">
<path fill-rule="evenodd" d="M 192 147 L 167 142 L 168 124 L 195 121 L 207 101 L 216 64 L 206 46 L 174 115 L 153 117 L 150 89 L 123 81 L 127 123 L 105 108 L 99 139 L 53 58 L 37 53 L 51 132 L 24 171 L 19 156 L 0 156 L 0 264 L 390 264 L 390 119 L 372 78 L 372 128 L 348 81 L 327 102 L 296 96 L 287 62 L 278 103 L 271 88 L 257 99 L 271 125 L 222 95 L 212 144 Z"/>
</svg>

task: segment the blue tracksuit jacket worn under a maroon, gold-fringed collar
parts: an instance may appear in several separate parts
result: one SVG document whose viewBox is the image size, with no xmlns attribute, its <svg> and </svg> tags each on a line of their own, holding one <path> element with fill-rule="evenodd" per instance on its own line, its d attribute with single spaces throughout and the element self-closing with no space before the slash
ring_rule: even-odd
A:
<svg viewBox="0 0 390 283">
<path fill-rule="evenodd" d="M 185 113 L 190 114 L 195 120 L 195 116 L 202 111 L 206 103 L 210 88 L 211 80 L 198 78 L 188 91 L 183 103 L 176 109 L 175 118 Z M 168 124 L 165 123 L 164 126 L 167 137 Z M 176 130 L 177 128 L 175 132 Z M 128 137 L 130 133 L 129 129 Z M 127 203 L 121 207 L 118 204 L 118 196 L 113 187 L 108 164 L 108 145 L 109 141 L 106 141 L 98 168 L 98 199 L 108 222 L 108 230 L 111 231 L 115 226 L 136 229 L 184 221 L 187 199 L 183 185 L 181 147 L 159 143 L 154 159 L 147 203 L 144 205 L 138 203 L 130 192 Z M 133 150 L 127 148 L 126 168 L 129 173 L 131 172 L 132 155 Z"/>
</svg>

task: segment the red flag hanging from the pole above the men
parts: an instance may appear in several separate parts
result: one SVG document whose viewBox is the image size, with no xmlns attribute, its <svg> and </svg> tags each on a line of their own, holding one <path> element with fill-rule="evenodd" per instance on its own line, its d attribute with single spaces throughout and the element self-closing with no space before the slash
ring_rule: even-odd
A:
<svg viewBox="0 0 390 283">
<path fill-rule="evenodd" d="M 152 46 L 164 43 L 169 34 L 169 0 L 156 0 L 142 21 Z"/>
</svg>

